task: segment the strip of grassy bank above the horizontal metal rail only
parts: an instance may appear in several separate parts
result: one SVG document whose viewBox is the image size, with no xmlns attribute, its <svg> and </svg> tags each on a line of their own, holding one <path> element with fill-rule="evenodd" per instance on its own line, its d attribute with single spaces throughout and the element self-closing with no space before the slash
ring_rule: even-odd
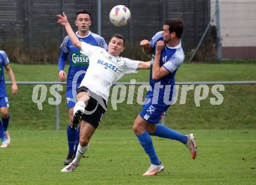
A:
<svg viewBox="0 0 256 185">
<path fill-rule="evenodd" d="M 57 65 L 19 65 L 12 63 L 17 81 L 58 81 Z M 65 67 L 67 72 L 69 66 Z M 256 63 L 184 63 L 176 73 L 176 81 L 256 80 Z M 8 79 L 6 77 L 6 79 Z M 126 74 L 120 81 L 148 81 L 149 70 Z"/>
</svg>

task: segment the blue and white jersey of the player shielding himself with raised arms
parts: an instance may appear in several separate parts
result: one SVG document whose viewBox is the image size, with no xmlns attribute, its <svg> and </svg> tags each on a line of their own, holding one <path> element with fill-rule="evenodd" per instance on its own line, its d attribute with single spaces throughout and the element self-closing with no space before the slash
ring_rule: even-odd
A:
<svg viewBox="0 0 256 185">
<path fill-rule="evenodd" d="M 165 67 L 166 70 L 169 71 L 169 74 L 163 77 L 162 79 L 153 80 L 152 79 L 152 65 L 154 63 L 155 49 L 157 47 L 157 42 L 163 40 L 163 32 L 159 31 L 157 34 L 152 37 L 150 41 L 150 45 L 153 51 L 153 55 L 151 58 L 151 69 L 150 69 L 150 86 L 151 91 L 148 92 L 148 95 L 153 95 L 155 87 L 159 85 L 163 85 L 162 88 L 159 88 L 158 98 L 163 98 L 166 85 L 170 85 L 172 88 L 170 89 L 170 97 L 172 97 L 172 89 L 175 84 L 175 74 L 177 69 L 182 65 L 184 61 L 184 52 L 182 49 L 181 42 L 176 47 L 168 47 L 165 45 L 163 48 L 160 58 L 160 66 Z M 157 97 L 155 97 L 157 98 Z"/>
</svg>

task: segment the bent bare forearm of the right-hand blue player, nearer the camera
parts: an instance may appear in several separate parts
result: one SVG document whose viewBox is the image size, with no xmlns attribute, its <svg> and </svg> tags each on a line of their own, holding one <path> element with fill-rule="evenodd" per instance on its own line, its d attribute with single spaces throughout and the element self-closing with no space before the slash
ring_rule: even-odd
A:
<svg viewBox="0 0 256 185">
<path fill-rule="evenodd" d="M 154 64 L 152 67 L 153 80 L 162 79 L 162 77 L 165 77 L 166 75 L 169 74 L 169 71 L 165 69 L 165 67 L 160 66 L 161 53 L 164 47 L 165 47 L 165 42 L 163 41 L 157 42 L 157 48 L 155 49 Z"/>
</svg>

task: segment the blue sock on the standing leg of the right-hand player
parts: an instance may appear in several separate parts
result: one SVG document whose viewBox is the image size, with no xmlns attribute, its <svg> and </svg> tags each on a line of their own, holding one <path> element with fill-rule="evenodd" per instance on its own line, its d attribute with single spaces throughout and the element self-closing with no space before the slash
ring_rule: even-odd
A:
<svg viewBox="0 0 256 185">
<path fill-rule="evenodd" d="M 153 165 L 160 165 L 161 162 L 159 161 L 158 156 L 155 152 L 152 139 L 148 131 L 144 131 L 143 134 L 140 134 L 137 137 L 145 152 L 148 154 L 148 156 L 150 156 L 151 163 Z"/>
</svg>

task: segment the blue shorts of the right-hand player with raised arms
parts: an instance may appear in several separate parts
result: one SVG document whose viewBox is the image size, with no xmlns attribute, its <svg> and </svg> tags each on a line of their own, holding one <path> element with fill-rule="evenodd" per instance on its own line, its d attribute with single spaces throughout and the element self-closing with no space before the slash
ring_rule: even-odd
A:
<svg viewBox="0 0 256 185">
<path fill-rule="evenodd" d="M 162 119 L 163 114 L 167 111 L 170 105 L 152 104 L 152 97 L 145 100 L 145 104 L 140 112 L 141 118 L 152 124 L 157 124 Z"/>
</svg>

